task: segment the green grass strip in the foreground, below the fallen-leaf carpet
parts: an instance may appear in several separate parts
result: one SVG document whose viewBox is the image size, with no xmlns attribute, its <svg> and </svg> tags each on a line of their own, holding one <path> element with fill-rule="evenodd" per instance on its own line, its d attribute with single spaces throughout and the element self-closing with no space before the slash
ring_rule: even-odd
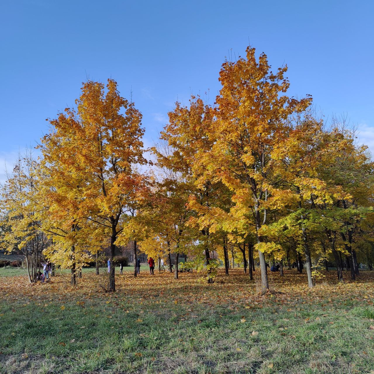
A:
<svg viewBox="0 0 374 374">
<path fill-rule="evenodd" d="M 0 373 L 16 373 L 19 365 L 37 366 L 39 373 L 343 374 L 373 368 L 374 333 L 363 307 L 300 305 L 290 313 L 276 306 L 239 314 L 228 306 L 198 307 L 197 317 L 189 307 L 154 300 L 130 310 L 126 299 L 64 307 L 58 300 L 1 305 L 2 355 L 16 361 L 8 357 Z M 22 353 L 30 358 L 22 360 Z"/>
</svg>

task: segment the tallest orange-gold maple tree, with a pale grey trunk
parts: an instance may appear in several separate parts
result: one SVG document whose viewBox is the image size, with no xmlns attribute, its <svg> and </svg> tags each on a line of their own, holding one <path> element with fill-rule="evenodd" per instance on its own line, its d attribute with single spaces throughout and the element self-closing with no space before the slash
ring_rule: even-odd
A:
<svg viewBox="0 0 374 374">
<path fill-rule="evenodd" d="M 206 154 L 206 164 L 233 191 L 233 202 L 254 218 L 261 266 L 262 291 L 269 287 L 264 252 L 266 243 L 261 226 L 267 223 L 269 209 L 287 200 L 273 178 L 278 161 L 273 150 L 288 136 L 288 118 L 303 111 L 311 98 L 295 99 L 284 93 L 289 82 L 284 77 L 287 67 L 276 73 L 270 70 L 267 56 L 258 59 L 248 47 L 246 58 L 224 62 L 220 71 L 222 85 L 217 96 L 215 121 L 210 137 L 215 140 Z"/>
</svg>

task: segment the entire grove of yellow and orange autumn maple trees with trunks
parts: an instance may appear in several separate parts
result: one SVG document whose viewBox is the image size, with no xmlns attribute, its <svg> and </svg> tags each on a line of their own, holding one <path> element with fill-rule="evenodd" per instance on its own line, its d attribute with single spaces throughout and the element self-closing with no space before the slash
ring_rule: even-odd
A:
<svg viewBox="0 0 374 374">
<path fill-rule="evenodd" d="M 108 79 L 83 84 L 74 108 L 49 120 L 50 131 L 9 173 L 1 189 L 1 240 L 21 250 L 30 282 L 43 255 L 76 273 L 103 247 L 134 243 L 166 260 L 178 256 L 212 282 L 229 257 L 261 288 L 269 260 L 306 268 L 310 287 L 333 261 L 343 282 L 359 263 L 372 268 L 373 162 L 355 130 L 327 126 L 312 98 L 286 95 L 286 67 L 248 47 L 225 61 L 214 105 L 192 96 L 177 102 L 145 159 L 142 115 Z M 136 276 L 134 271 L 134 276 Z M 282 272 L 281 272 L 282 275 Z M 115 291 L 114 266 L 108 290 Z"/>
</svg>

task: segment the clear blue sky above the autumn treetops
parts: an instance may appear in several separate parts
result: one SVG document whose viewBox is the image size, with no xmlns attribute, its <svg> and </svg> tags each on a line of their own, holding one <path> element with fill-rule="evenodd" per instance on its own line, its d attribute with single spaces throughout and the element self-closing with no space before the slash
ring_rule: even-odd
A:
<svg viewBox="0 0 374 374">
<path fill-rule="evenodd" d="M 46 118 L 73 105 L 86 77 L 133 91 L 148 146 L 177 99 L 209 90 L 214 102 L 225 56 L 249 43 L 275 69 L 288 65 L 291 95 L 310 93 L 327 118 L 347 116 L 374 151 L 371 0 L 0 3 L 0 174 Z"/>
</svg>

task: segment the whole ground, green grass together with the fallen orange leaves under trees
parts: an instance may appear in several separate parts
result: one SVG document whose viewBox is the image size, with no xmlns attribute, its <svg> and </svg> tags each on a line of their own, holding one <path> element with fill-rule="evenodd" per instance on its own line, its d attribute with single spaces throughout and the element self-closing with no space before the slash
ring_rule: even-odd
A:
<svg viewBox="0 0 374 374">
<path fill-rule="evenodd" d="M 269 274 L 264 296 L 242 270 L 206 285 L 143 268 L 117 274 L 115 294 L 89 271 L 76 288 L 4 272 L 0 373 L 374 373 L 374 272 L 312 290 L 295 270 Z"/>
</svg>

